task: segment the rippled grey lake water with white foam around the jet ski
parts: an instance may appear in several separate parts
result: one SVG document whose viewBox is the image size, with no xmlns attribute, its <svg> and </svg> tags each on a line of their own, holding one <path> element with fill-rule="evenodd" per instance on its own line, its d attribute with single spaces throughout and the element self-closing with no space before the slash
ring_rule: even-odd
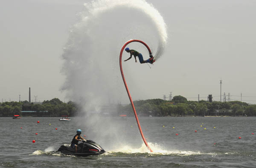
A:
<svg viewBox="0 0 256 168">
<path fill-rule="evenodd" d="M 0 167 L 256 167 L 255 117 L 140 117 L 152 153 L 145 147 L 134 117 L 58 119 L 0 118 Z M 54 152 L 71 142 L 76 129 L 108 152 L 90 157 Z"/>
</svg>

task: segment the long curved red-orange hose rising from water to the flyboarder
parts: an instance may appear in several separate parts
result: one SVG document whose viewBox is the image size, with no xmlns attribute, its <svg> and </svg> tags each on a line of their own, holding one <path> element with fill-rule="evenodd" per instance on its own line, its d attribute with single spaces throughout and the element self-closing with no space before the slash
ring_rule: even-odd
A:
<svg viewBox="0 0 256 168">
<path fill-rule="evenodd" d="M 136 112 L 136 110 L 135 110 L 134 103 L 133 103 L 133 101 L 132 101 L 132 99 L 131 99 L 131 95 L 130 95 L 130 92 L 129 92 L 129 90 L 128 90 L 128 86 L 127 86 L 127 84 L 126 84 L 125 76 L 124 76 L 124 73 L 123 73 L 123 70 L 122 70 L 122 53 L 123 53 L 123 50 L 125 49 L 125 46 L 128 45 L 128 44 L 131 43 L 131 42 L 140 42 L 140 43 L 142 43 L 142 44 L 145 45 L 145 47 L 148 49 L 149 55 L 151 55 L 152 53 L 151 53 L 150 48 L 148 47 L 148 45 L 147 45 L 145 42 L 143 42 L 143 41 L 141 41 L 141 40 L 136 40 L 136 39 L 129 40 L 128 42 L 126 42 L 126 43 L 123 45 L 123 47 L 122 47 L 122 49 L 121 49 L 121 51 L 120 51 L 119 65 L 120 65 L 120 71 L 121 71 L 122 79 L 123 79 L 124 84 L 125 84 L 125 89 L 126 89 L 126 91 L 127 91 L 128 97 L 129 97 L 129 99 L 130 99 L 131 106 L 132 106 L 132 109 L 133 109 L 133 111 L 134 111 L 134 115 L 135 115 L 135 118 L 136 118 L 136 121 L 137 121 L 139 130 L 140 130 L 141 137 L 142 137 L 142 139 L 143 139 L 145 145 L 148 147 L 148 149 L 149 149 L 151 152 L 153 152 L 152 149 L 148 146 L 148 143 L 147 143 L 147 141 L 145 140 L 145 137 L 144 137 L 143 132 L 142 132 L 142 130 L 141 130 L 140 121 L 139 121 L 139 119 L 138 119 L 137 112 Z"/>
</svg>

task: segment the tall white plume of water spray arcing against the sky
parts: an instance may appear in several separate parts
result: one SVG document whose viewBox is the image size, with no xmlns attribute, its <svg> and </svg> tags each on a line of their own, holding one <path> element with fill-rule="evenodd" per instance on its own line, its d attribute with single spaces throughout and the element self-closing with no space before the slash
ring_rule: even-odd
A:
<svg viewBox="0 0 256 168">
<path fill-rule="evenodd" d="M 96 0 L 84 6 L 64 48 L 62 90 L 84 111 L 97 111 L 102 104 L 127 99 L 118 62 L 122 45 L 128 39 L 143 40 L 159 59 L 166 45 L 166 24 L 145 0 Z M 135 46 L 148 59 L 146 48 Z"/>
</svg>

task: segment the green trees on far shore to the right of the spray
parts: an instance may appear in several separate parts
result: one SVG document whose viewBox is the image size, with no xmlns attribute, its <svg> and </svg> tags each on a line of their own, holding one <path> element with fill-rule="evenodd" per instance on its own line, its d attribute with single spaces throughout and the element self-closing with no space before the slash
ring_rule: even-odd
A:
<svg viewBox="0 0 256 168">
<path fill-rule="evenodd" d="M 172 101 L 151 99 L 134 101 L 137 114 L 140 116 L 256 116 L 256 105 L 241 101 L 220 102 L 187 101 L 181 95 L 174 96 Z M 119 114 L 133 115 L 131 104 L 119 105 Z"/>
</svg>

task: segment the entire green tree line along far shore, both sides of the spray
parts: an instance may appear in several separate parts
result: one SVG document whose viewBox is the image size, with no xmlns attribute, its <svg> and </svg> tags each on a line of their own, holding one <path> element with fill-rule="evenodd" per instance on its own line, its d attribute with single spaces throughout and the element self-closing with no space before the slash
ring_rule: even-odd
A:
<svg viewBox="0 0 256 168">
<path fill-rule="evenodd" d="M 116 104 L 109 115 L 133 116 L 131 104 Z M 183 96 L 174 96 L 172 101 L 163 99 L 149 99 L 134 101 L 137 114 L 140 116 L 205 116 L 205 115 L 225 115 L 225 116 L 256 116 L 256 105 L 247 104 L 241 101 L 220 102 L 213 101 L 187 101 Z M 28 101 L 3 102 L 0 103 L 0 116 L 10 117 L 21 115 L 21 111 L 34 111 L 35 116 L 76 116 L 81 108 L 73 101 L 64 103 L 58 98 L 44 101 L 42 104 L 33 104 Z M 42 115 L 44 114 L 44 115 Z"/>
</svg>

